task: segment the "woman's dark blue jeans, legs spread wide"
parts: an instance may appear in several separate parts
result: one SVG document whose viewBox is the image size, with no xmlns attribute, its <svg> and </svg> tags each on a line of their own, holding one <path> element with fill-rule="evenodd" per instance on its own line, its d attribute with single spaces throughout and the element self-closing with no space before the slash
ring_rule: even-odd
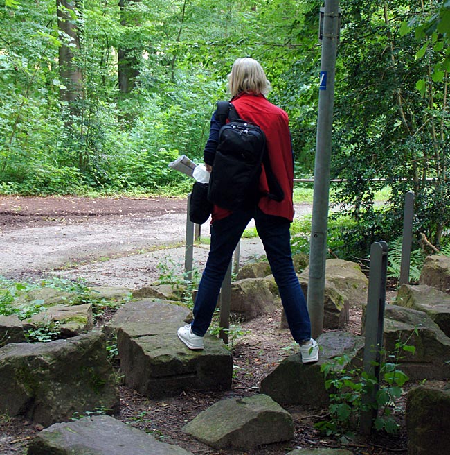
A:
<svg viewBox="0 0 450 455">
<path fill-rule="evenodd" d="M 255 218 L 292 337 L 297 343 L 309 340 L 311 323 L 305 296 L 292 264 L 290 222 L 280 216 L 266 215 L 258 208 L 235 210 L 211 225 L 211 247 L 195 299 L 192 332 L 199 336 L 206 334 L 228 264 L 251 218 Z"/>
</svg>

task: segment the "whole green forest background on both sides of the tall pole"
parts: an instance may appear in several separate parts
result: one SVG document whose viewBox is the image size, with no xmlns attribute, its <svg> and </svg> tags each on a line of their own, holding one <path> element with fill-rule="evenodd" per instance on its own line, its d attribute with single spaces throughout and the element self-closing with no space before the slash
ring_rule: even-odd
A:
<svg viewBox="0 0 450 455">
<path fill-rule="evenodd" d="M 296 178 L 314 174 L 318 0 L 0 0 L 0 193 L 187 194 L 235 58 L 287 111 Z M 332 203 L 343 243 L 414 230 L 449 243 L 450 1 L 342 0 Z M 389 188 L 383 207 L 376 191 Z M 341 223 L 342 224 L 342 223 Z"/>
</svg>

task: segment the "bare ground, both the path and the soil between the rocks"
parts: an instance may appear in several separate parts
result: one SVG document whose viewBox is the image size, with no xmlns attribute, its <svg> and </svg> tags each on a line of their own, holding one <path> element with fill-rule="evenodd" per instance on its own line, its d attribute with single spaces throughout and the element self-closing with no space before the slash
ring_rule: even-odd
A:
<svg viewBox="0 0 450 455">
<path fill-rule="evenodd" d="M 309 205 L 299 205 L 297 216 L 310 209 Z M 46 275 L 83 277 L 88 284 L 123 284 L 136 289 L 157 276 L 154 262 L 161 261 L 161 251 L 180 259 L 183 248 L 177 246 L 184 241 L 185 233 L 186 200 L 182 198 L 0 196 L 0 275 L 13 280 L 36 280 Z M 258 248 L 257 240 L 249 242 L 250 252 L 242 254 L 241 259 L 251 258 Z M 207 246 L 204 250 L 206 255 Z M 200 266 L 203 260 L 199 261 Z M 98 325 L 105 320 L 98 320 Z M 361 312 L 352 309 L 346 329 L 359 333 L 360 320 Z M 325 418 L 326 409 L 299 406 L 287 407 L 294 417 L 293 440 L 248 452 L 217 451 L 181 430 L 186 422 L 218 400 L 258 392 L 261 379 L 292 352 L 292 340 L 279 329 L 279 321 L 280 311 L 242 323 L 237 334 L 240 336 L 231 347 L 234 364 L 231 390 L 186 391 L 178 397 L 154 401 L 120 386 L 119 418 L 193 454 L 284 455 L 297 447 L 341 447 L 339 441 L 325 438 L 314 429 L 314 423 Z M 402 422 L 404 402 L 398 406 Z M 23 418 L 0 415 L 0 453 L 25 454 L 30 438 L 40 429 L 39 424 Z M 353 440 L 348 449 L 354 454 L 406 452 L 404 428 L 394 438 L 378 433 L 366 440 Z"/>
</svg>

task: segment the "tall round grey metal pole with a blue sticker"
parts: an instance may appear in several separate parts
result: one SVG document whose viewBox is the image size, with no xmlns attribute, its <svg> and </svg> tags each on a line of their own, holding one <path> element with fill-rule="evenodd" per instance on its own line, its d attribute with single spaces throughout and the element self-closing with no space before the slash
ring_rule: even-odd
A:
<svg viewBox="0 0 450 455">
<path fill-rule="evenodd" d="M 325 259 L 338 24 L 339 1 L 325 0 L 307 293 L 307 305 L 314 338 L 323 332 L 323 298 L 325 293 Z"/>
</svg>

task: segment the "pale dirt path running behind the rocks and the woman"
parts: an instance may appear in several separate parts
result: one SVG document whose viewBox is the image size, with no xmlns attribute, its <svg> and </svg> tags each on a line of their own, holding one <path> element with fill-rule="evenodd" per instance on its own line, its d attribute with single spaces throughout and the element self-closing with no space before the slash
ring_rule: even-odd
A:
<svg viewBox="0 0 450 455">
<path fill-rule="evenodd" d="M 298 205 L 297 216 L 310 209 Z M 137 289 L 168 261 L 181 273 L 185 239 L 184 198 L 0 197 L 0 275 L 13 280 L 58 275 Z M 259 239 L 243 245 L 242 261 L 263 254 Z M 207 254 L 195 248 L 197 268 Z"/>
</svg>

